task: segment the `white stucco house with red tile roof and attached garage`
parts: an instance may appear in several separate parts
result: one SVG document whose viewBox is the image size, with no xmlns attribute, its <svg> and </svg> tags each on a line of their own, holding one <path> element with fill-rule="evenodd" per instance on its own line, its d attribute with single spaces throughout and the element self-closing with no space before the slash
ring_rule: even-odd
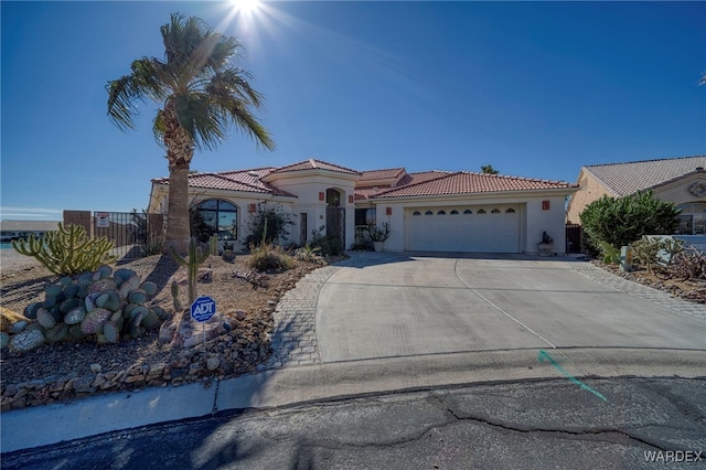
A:
<svg viewBox="0 0 706 470">
<path fill-rule="evenodd" d="M 293 215 L 288 243 L 312 232 L 340 235 L 345 248 L 361 227 L 389 223 L 385 250 L 537 253 L 546 232 L 565 253 L 565 200 L 576 184 L 473 172 L 404 168 L 356 171 L 320 160 L 281 168 L 193 173 L 189 191 L 206 223 L 243 249 L 249 213 L 260 202 Z M 165 206 L 169 179 L 152 180 L 149 212 Z M 357 239 L 356 239 L 357 235 Z"/>
</svg>

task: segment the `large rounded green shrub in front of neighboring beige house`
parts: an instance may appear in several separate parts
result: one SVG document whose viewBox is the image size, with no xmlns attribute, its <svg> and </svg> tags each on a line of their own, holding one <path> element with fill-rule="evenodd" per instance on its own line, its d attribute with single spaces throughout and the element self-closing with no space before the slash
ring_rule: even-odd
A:
<svg viewBox="0 0 706 470">
<path fill-rule="evenodd" d="M 643 235 L 671 235 L 678 227 L 680 210 L 651 192 L 625 197 L 602 196 L 580 214 L 589 250 L 598 252 L 601 242 L 614 247 L 630 245 Z"/>
</svg>

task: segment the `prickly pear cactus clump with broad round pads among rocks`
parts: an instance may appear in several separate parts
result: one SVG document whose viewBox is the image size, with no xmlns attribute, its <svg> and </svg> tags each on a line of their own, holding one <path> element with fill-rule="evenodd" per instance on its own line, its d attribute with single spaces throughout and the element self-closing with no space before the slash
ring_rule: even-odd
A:
<svg viewBox="0 0 706 470">
<path fill-rule="evenodd" d="M 61 341 L 115 344 L 137 338 L 170 318 L 148 306 L 157 293 L 154 282 L 142 282 L 131 269 L 100 266 L 64 276 L 44 289 L 44 301 L 26 306 L 26 325 L 8 331 L 0 345 L 20 352 Z"/>
</svg>

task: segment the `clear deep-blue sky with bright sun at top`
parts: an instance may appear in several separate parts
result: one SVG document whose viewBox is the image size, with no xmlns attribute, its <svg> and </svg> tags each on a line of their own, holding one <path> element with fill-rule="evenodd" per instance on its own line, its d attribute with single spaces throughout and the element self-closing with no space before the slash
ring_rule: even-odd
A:
<svg viewBox="0 0 706 470">
<path fill-rule="evenodd" d="M 151 133 L 106 116 L 105 84 L 163 56 L 171 12 L 240 40 L 277 150 L 243 135 L 192 169 L 317 158 L 357 170 L 575 181 L 584 164 L 706 153 L 704 2 L 0 3 L 3 220 L 146 207 Z"/>
</svg>

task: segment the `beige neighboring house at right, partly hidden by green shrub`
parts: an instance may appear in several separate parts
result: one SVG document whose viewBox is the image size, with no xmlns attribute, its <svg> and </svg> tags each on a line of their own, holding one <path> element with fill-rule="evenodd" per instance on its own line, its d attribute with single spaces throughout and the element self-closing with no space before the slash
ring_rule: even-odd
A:
<svg viewBox="0 0 706 470">
<path fill-rule="evenodd" d="M 567 222 L 580 224 L 588 204 L 603 195 L 623 197 L 652 191 L 682 210 L 678 233 L 706 235 L 706 156 L 593 164 L 581 168 L 580 190 L 569 200 Z"/>
</svg>

